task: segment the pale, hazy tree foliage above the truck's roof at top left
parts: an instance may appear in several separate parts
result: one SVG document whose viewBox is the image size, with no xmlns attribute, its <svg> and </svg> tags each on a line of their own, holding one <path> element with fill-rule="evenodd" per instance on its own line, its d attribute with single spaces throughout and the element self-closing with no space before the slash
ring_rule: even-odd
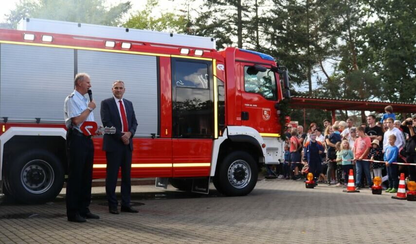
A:
<svg viewBox="0 0 416 244">
<path fill-rule="evenodd" d="M 107 8 L 105 0 L 20 0 L 6 14 L 6 28 L 16 28 L 22 17 L 120 26 L 130 1 Z"/>
</svg>

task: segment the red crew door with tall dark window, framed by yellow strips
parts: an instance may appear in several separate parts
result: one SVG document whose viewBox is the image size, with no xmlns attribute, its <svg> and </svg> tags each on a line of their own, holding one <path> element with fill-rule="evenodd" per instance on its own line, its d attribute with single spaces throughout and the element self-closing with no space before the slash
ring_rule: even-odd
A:
<svg viewBox="0 0 416 244">
<path fill-rule="evenodd" d="M 212 61 L 172 58 L 173 177 L 210 174 L 212 87 Z"/>
</svg>

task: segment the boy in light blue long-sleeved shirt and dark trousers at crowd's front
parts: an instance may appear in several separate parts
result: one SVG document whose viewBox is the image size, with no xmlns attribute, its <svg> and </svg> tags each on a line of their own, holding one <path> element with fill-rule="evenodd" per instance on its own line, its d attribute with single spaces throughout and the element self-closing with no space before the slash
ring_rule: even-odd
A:
<svg viewBox="0 0 416 244">
<path fill-rule="evenodd" d="M 398 165 L 392 164 L 397 162 L 398 148 L 395 146 L 396 135 L 389 135 L 389 145 L 384 149 L 384 161 L 389 175 L 389 188 L 385 192 L 396 193 L 398 189 Z"/>
</svg>

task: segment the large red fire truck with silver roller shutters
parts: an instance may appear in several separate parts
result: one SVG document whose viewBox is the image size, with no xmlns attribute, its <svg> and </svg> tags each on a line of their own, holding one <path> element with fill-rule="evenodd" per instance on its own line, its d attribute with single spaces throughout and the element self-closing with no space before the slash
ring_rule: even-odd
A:
<svg viewBox="0 0 416 244">
<path fill-rule="evenodd" d="M 216 51 L 214 38 L 22 19 L 18 30 L 0 29 L 4 194 L 39 203 L 61 191 L 63 102 L 80 72 L 90 75 L 97 105 L 112 96 L 114 80 L 126 84 L 139 122 L 132 178 L 202 193 L 212 180 L 221 193 L 240 196 L 253 190 L 259 164 L 284 159 L 279 102 L 289 97 L 289 76 L 273 57 Z M 105 178 L 102 137 L 93 141 L 93 178 Z"/>
</svg>

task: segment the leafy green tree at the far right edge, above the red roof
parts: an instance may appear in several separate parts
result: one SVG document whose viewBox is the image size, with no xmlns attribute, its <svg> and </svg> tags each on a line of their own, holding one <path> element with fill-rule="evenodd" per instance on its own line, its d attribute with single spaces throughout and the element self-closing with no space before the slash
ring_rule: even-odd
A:
<svg viewBox="0 0 416 244">
<path fill-rule="evenodd" d="M 368 0 L 371 14 L 365 37 L 374 55 L 373 72 L 383 88 L 381 99 L 416 102 L 416 1 Z"/>
</svg>

